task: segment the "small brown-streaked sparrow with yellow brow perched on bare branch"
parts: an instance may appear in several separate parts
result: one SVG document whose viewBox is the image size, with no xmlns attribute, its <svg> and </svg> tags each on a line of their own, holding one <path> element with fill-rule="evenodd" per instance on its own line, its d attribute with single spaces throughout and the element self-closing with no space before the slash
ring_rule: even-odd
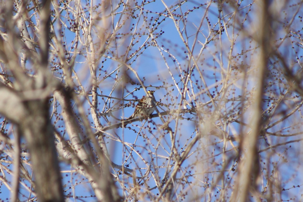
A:
<svg viewBox="0 0 303 202">
<path fill-rule="evenodd" d="M 141 98 L 136 105 L 135 111 L 132 114 L 132 116 L 128 117 L 126 120 L 139 117 L 139 116 L 144 116 L 147 118 L 149 115 L 151 115 L 155 111 L 155 105 L 157 103 L 155 97 L 154 97 L 154 92 L 155 91 L 147 91 L 149 96 L 144 96 Z M 154 103 L 154 104 L 152 104 Z"/>
</svg>

